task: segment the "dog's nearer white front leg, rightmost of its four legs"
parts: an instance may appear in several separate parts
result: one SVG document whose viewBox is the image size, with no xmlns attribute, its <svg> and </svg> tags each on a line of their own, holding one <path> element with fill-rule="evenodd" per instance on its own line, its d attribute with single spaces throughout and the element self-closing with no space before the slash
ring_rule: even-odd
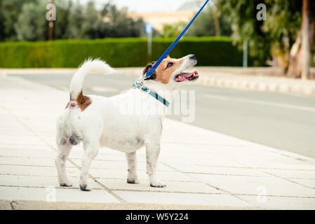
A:
<svg viewBox="0 0 315 224">
<path fill-rule="evenodd" d="M 146 144 L 146 154 L 147 154 L 147 174 L 149 175 L 150 186 L 155 188 L 163 188 L 166 185 L 156 179 L 156 168 L 157 168 L 157 160 L 159 158 L 160 153 L 160 144 Z"/>
</svg>

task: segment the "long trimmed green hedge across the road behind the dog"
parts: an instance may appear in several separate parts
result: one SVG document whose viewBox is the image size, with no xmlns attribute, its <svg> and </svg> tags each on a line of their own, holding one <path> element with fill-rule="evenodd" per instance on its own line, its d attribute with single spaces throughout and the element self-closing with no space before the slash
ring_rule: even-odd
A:
<svg viewBox="0 0 315 224">
<path fill-rule="evenodd" d="M 174 38 L 154 38 L 152 59 L 156 60 Z M 199 66 L 241 66 L 242 52 L 228 37 L 183 38 L 171 57 L 195 54 Z M 145 66 L 148 62 L 145 38 L 105 38 L 0 43 L 0 67 L 74 68 L 87 57 L 100 57 L 114 67 Z"/>
</svg>

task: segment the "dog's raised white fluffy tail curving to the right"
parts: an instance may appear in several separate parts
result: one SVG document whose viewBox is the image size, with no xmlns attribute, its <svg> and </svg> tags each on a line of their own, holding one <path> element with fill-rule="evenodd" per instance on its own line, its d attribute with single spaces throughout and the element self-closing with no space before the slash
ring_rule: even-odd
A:
<svg viewBox="0 0 315 224">
<path fill-rule="evenodd" d="M 70 83 L 70 99 L 76 99 L 82 91 L 83 80 L 90 73 L 113 73 L 114 69 L 100 59 L 87 59 L 74 73 Z"/>
</svg>

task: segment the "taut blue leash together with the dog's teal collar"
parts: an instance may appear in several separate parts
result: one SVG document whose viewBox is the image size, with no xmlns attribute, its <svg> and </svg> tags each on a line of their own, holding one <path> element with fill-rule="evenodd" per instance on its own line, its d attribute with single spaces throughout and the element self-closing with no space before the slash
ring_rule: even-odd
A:
<svg viewBox="0 0 315 224">
<path fill-rule="evenodd" d="M 154 73 L 155 69 L 157 68 L 157 66 L 159 66 L 159 64 L 161 64 L 161 62 L 163 61 L 163 59 L 168 55 L 168 53 L 173 50 L 173 48 L 175 47 L 175 45 L 178 43 L 178 41 L 180 41 L 180 38 L 182 38 L 182 36 L 186 33 L 187 29 L 189 29 L 189 27 L 192 25 L 192 23 L 194 22 L 194 20 L 196 20 L 197 16 L 199 15 L 199 13 L 201 13 L 201 11 L 203 10 L 203 8 L 205 8 L 206 4 L 208 3 L 209 0 L 207 0 L 203 6 L 199 9 L 198 13 L 196 13 L 196 15 L 194 16 L 194 18 L 192 18 L 192 21 L 189 22 L 189 24 L 185 27 L 185 29 L 183 29 L 183 31 L 180 33 L 180 35 L 177 36 L 177 38 L 175 39 L 175 41 L 168 47 L 168 49 L 163 53 L 163 55 L 157 60 L 157 62 L 154 63 L 154 65 L 152 66 L 152 68 L 147 71 L 147 73 L 145 73 L 143 76 L 141 76 L 140 78 L 136 79 L 135 82 L 133 83 L 133 87 L 134 88 L 138 88 L 140 90 L 142 90 L 143 92 L 146 92 L 147 94 L 152 95 L 152 97 L 156 98 L 157 100 L 159 100 L 159 102 L 161 102 L 162 104 L 164 104 L 165 106 L 168 106 L 170 103 L 164 99 L 163 97 L 161 97 L 159 94 L 157 94 L 156 92 L 153 92 L 152 90 L 150 90 L 148 87 L 145 87 L 143 85 L 143 80 L 145 80 L 146 78 L 149 78 L 150 76 L 152 76 L 152 74 Z"/>
</svg>

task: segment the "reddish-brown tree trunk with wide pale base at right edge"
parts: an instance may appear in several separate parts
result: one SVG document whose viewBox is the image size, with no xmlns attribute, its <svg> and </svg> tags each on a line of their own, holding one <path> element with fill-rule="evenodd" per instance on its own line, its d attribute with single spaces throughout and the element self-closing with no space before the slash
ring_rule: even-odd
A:
<svg viewBox="0 0 315 224">
<path fill-rule="evenodd" d="M 302 27 L 290 50 L 287 76 L 292 78 L 309 78 L 310 42 L 314 36 L 314 21 L 309 21 L 309 1 L 303 0 Z"/>
</svg>

